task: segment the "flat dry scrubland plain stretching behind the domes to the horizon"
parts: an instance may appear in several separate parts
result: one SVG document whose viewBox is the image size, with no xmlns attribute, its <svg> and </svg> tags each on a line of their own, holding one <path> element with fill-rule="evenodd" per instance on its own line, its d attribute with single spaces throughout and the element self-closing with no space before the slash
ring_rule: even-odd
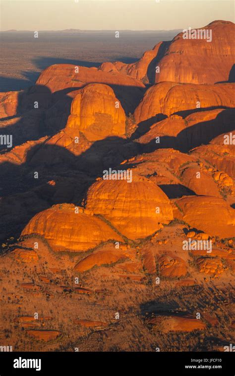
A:
<svg viewBox="0 0 235 376">
<path fill-rule="evenodd" d="M 114 43 L 114 31 L 0 32 L 0 91 L 22 90 L 35 83 L 52 64 L 98 67 L 104 61 L 138 60 L 146 49 L 162 40 L 172 40 L 179 30 L 122 31 Z M 118 46 L 118 48 L 117 48 Z"/>
</svg>

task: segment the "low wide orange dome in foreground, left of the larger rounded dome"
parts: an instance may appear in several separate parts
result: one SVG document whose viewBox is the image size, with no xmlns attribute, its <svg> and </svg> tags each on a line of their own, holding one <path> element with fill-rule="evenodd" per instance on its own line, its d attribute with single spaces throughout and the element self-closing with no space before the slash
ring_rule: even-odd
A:
<svg viewBox="0 0 235 376">
<path fill-rule="evenodd" d="M 22 231 L 22 235 L 43 236 L 55 251 L 79 252 L 94 248 L 120 236 L 95 216 L 75 213 L 72 204 L 55 205 L 37 214 Z"/>
</svg>

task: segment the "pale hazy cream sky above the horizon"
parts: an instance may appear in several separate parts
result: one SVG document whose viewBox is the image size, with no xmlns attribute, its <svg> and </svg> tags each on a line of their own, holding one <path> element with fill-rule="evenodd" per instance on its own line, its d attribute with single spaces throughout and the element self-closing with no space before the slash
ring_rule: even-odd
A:
<svg viewBox="0 0 235 376">
<path fill-rule="evenodd" d="M 0 29 L 170 30 L 234 21 L 230 0 L 0 0 Z"/>
</svg>

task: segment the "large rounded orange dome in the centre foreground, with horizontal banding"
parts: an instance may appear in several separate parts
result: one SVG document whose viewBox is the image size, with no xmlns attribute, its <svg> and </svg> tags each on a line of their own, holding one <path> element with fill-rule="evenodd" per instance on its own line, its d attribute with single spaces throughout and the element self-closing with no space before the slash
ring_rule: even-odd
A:
<svg viewBox="0 0 235 376">
<path fill-rule="evenodd" d="M 151 235 L 160 228 L 160 223 L 173 220 L 173 210 L 165 193 L 149 179 L 136 175 L 130 183 L 97 181 L 88 190 L 86 208 L 101 214 L 130 239 Z"/>
</svg>

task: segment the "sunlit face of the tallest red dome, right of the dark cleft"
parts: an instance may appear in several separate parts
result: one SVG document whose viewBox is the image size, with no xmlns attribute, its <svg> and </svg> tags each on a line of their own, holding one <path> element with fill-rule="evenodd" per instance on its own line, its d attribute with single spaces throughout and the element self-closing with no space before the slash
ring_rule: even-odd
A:
<svg viewBox="0 0 235 376">
<path fill-rule="evenodd" d="M 229 21 L 214 21 L 205 27 L 206 39 L 183 39 L 176 35 L 160 60 L 155 82 L 216 83 L 232 79 L 235 64 L 235 25 Z M 203 35 L 203 34 L 202 34 Z"/>
</svg>

